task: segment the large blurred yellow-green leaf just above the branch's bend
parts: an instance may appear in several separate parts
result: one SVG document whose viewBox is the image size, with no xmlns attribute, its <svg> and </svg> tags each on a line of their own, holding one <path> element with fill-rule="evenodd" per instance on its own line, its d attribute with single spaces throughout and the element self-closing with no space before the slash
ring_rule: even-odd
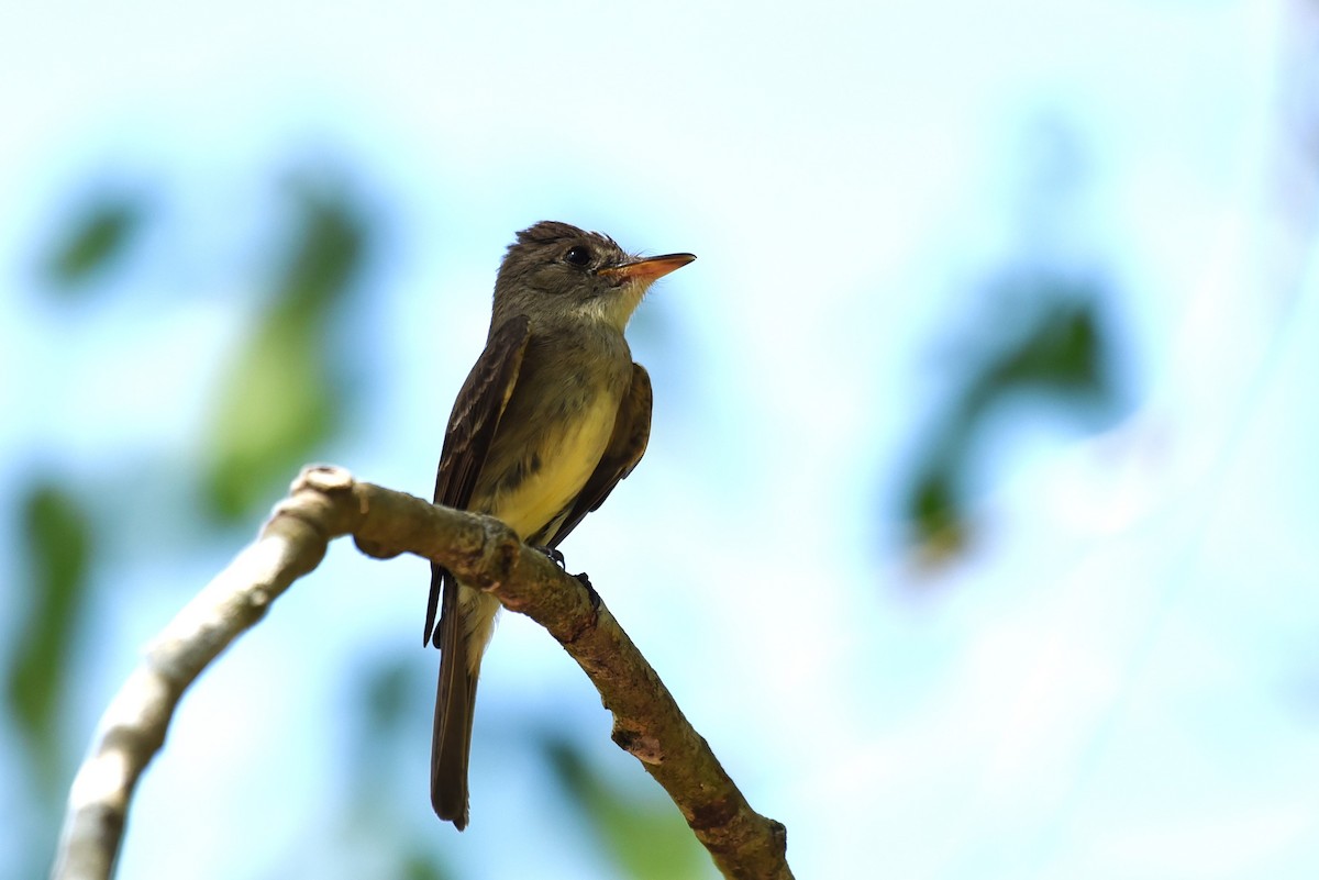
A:
<svg viewBox="0 0 1319 880">
<path fill-rule="evenodd" d="M 206 499 L 228 522 L 268 505 L 340 424 L 328 327 L 361 262 L 365 231 L 338 191 L 301 186 L 293 198 L 291 253 L 218 394 L 207 433 Z"/>
</svg>

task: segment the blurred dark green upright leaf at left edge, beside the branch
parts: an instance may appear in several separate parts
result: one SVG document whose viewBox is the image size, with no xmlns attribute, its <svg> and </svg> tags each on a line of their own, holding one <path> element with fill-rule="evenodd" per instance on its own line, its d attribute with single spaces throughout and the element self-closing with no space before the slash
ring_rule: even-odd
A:
<svg viewBox="0 0 1319 880">
<path fill-rule="evenodd" d="M 58 713 L 87 597 L 91 524 L 74 493 L 38 482 L 22 502 L 22 534 L 28 602 L 18 607 L 26 607 L 26 619 L 18 627 L 7 696 L 42 790 L 58 796 L 63 781 Z"/>
</svg>

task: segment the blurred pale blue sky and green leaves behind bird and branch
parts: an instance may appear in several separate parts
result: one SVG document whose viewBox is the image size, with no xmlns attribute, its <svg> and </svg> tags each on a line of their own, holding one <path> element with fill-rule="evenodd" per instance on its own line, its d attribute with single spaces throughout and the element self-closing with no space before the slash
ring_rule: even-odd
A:
<svg viewBox="0 0 1319 880">
<path fill-rule="evenodd" d="M 802 877 L 1319 876 L 1319 7 L 12 4 L 0 873 L 298 466 L 426 495 L 513 233 L 699 261 L 565 547 Z M 120 876 L 708 877 L 505 617 L 430 814 L 426 565 L 185 698 Z"/>
</svg>

